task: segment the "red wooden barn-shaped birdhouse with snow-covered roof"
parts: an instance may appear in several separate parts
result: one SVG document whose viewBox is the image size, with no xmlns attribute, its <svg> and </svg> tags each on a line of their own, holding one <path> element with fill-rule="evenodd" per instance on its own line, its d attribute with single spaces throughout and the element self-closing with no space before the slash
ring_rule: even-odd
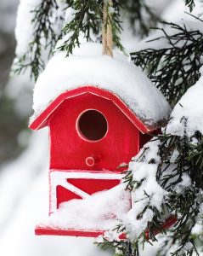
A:
<svg viewBox="0 0 203 256">
<path fill-rule="evenodd" d="M 90 55 L 84 55 L 87 50 L 82 49 L 67 58 L 64 54 L 55 55 L 36 84 L 35 114 L 30 128 L 48 126 L 49 215 L 55 216 L 51 222 L 37 225 L 37 235 L 103 234 L 105 225 L 104 229 L 97 224 L 88 226 L 85 217 L 82 217 L 84 224 L 74 225 L 75 216 L 65 213 L 65 204 L 70 204 L 71 212 L 76 204 L 90 201 L 94 195 L 96 204 L 102 205 L 99 195 L 104 193 L 108 201 L 110 191 L 120 185 L 123 177 L 123 168 L 118 166 L 138 154 L 149 141 L 149 134 L 159 131 L 170 113 L 161 92 L 138 67 L 120 55 L 115 59 L 98 56 L 98 44 L 84 47 L 91 49 Z M 115 193 L 120 197 L 111 203 L 121 206 L 123 198 L 123 209 L 128 211 L 132 203 L 130 195 L 124 189 L 122 193 L 126 195 L 120 192 Z M 88 206 L 83 204 L 78 214 L 91 215 L 88 212 L 93 209 Z M 72 222 L 66 219 L 64 225 L 53 224 L 61 209 Z M 113 220 L 117 213 L 110 211 L 104 218 Z"/>
</svg>

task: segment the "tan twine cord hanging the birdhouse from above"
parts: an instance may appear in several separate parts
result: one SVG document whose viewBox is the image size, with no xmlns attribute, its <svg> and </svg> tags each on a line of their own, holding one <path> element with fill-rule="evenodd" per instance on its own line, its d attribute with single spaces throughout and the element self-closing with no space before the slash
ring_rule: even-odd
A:
<svg viewBox="0 0 203 256">
<path fill-rule="evenodd" d="M 110 55 L 111 57 L 113 57 L 112 17 L 110 13 L 112 6 L 113 3 L 111 0 L 104 0 L 102 30 L 103 55 Z"/>
</svg>

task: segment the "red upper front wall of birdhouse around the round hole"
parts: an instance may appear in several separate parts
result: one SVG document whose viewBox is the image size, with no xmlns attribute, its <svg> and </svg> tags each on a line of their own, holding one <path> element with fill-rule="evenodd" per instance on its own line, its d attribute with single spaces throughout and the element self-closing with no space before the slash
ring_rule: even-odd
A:
<svg viewBox="0 0 203 256">
<path fill-rule="evenodd" d="M 87 109 L 103 113 L 108 122 L 107 134 L 97 142 L 84 139 L 77 131 L 77 119 Z M 65 100 L 50 117 L 49 129 L 51 169 L 115 171 L 138 154 L 138 129 L 113 102 L 93 94 Z M 98 156 L 99 161 L 87 166 L 91 155 Z"/>
</svg>

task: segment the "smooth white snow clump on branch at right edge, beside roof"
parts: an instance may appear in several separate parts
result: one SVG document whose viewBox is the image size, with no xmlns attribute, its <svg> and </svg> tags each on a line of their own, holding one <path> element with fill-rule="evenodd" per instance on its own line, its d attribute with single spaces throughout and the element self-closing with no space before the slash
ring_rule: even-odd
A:
<svg viewBox="0 0 203 256">
<path fill-rule="evenodd" d="M 203 134 L 203 68 L 199 81 L 189 88 L 172 111 L 172 119 L 166 132 L 177 136 L 193 136 L 195 131 Z"/>
</svg>

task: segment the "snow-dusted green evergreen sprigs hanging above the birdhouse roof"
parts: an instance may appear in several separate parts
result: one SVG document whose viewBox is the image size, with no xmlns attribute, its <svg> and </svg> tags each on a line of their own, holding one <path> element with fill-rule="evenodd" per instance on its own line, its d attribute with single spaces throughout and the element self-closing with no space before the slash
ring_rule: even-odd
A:
<svg viewBox="0 0 203 256">
<path fill-rule="evenodd" d="M 67 55 L 70 55 L 72 50 L 80 45 L 80 36 L 86 38 L 87 41 L 101 41 L 103 0 L 63 0 L 62 3 L 65 4 L 65 9 L 67 7 L 74 9 L 74 14 L 59 34 L 54 32 L 54 26 L 60 21 L 64 21 L 65 17 L 54 16 L 56 10 L 59 9 L 56 0 L 42 1 L 37 8 L 31 9 L 33 14 L 32 26 L 34 27 L 33 37 L 25 54 L 16 57 L 13 73 L 25 73 L 27 69 L 30 69 L 31 78 L 37 80 L 46 64 L 43 57 L 44 51 L 48 52 L 49 58 L 56 42 L 62 35 L 65 36 L 65 39 L 58 49 L 65 50 Z M 112 3 L 113 43 L 125 52 L 120 38 L 122 30 L 121 12 L 127 11 L 134 32 L 140 33 L 141 36 L 148 34 L 149 26 L 155 26 L 158 17 L 143 0 L 112 0 Z M 147 20 L 145 20 L 145 14 L 148 15 Z"/>
</svg>

